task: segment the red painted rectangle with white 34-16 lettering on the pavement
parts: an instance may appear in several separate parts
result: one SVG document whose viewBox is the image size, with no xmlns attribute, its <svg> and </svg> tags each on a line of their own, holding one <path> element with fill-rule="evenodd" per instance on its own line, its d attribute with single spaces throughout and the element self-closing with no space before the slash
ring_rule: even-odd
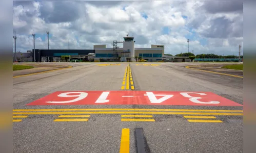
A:
<svg viewBox="0 0 256 153">
<path fill-rule="evenodd" d="M 66 94 L 67 92 L 82 92 L 82 95 L 81 93 Z M 188 94 L 185 94 L 184 92 L 185 93 L 188 92 Z M 151 96 L 149 96 L 150 94 Z M 81 95 L 81 96 L 75 96 L 75 95 Z M 73 97 L 65 97 L 65 96 L 73 96 Z M 123 96 L 126 96 L 126 97 L 123 97 Z M 151 100 L 150 100 L 150 97 L 151 97 Z M 199 98 L 193 98 L 193 97 L 199 97 Z M 47 103 L 47 101 L 55 101 L 55 102 Z M 210 101 L 215 101 L 215 102 L 210 102 Z M 43 98 L 37 99 L 27 105 L 243 106 L 241 104 L 235 103 L 232 100 L 229 100 L 227 98 L 224 98 L 212 92 L 189 93 L 189 91 L 57 91 Z"/>
</svg>

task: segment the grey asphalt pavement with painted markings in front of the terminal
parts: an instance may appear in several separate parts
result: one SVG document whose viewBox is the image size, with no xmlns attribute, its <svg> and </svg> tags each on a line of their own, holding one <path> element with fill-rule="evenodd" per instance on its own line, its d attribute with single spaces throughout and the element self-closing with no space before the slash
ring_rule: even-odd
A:
<svg viewBox="0 0 256 153">
<path fill-rule="evenodd" d="M 13 152 L 243 152 L 241 71 L 209 63 L 56 64 L 72 68 L 13 78 Z M 212 69 L 197 70 L 202 65 Z M 180 98 L 149 104 L 142 96 L 151 92 Z M 189 101 L 180 92 L 211 92 L 208 99 L 220 96 L 227 106 L 196 102 L 195 94 Z"/>
</svg>

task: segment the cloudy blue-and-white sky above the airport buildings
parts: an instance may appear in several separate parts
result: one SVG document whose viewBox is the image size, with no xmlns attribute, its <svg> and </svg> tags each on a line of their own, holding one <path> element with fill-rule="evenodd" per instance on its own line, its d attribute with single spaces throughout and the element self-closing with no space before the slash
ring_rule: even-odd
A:
<svg viewBox="0 0 256 153">
<path fill-rule="evenodd" d="M 238 1 L 13 1 L 17 52 L 33 48 L 112 47 L 134 36 L 135 47 L 165 45 L 165 54 L 238 55 L 243 45 L 243 2 Z M 122 45 L 120 44 L 120 47 Z M 14 40 L 13 40 L 14 50 Z"/>
</svg>

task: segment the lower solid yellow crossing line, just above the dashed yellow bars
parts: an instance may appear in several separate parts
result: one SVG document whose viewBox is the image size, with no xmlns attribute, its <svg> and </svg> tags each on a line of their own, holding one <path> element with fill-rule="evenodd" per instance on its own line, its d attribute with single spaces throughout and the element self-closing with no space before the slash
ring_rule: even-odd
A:
<svg viewBox="0 0 256 153">
<path fill-rule="evenodd" d="M 14 115 L 36 114 L 163 114 L 163 115 L 231 115 L 243 116 L 242 113 L 201 113 L 201 112 L 13 112 Z"/>
</svg>

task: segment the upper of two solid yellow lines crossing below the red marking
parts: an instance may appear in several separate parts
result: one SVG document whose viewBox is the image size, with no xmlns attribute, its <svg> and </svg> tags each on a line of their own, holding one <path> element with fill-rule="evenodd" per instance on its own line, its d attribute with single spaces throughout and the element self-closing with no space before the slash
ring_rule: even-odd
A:
<svg viewBox="0 0 256 153">
<path fill-rule="evenodd" d="M 244 112 L 243 110 L 189 110 L 189 109 L 14 109 L 13 112 L 35 111 L 180 111 L 180 112 Z"/>
</svg>

